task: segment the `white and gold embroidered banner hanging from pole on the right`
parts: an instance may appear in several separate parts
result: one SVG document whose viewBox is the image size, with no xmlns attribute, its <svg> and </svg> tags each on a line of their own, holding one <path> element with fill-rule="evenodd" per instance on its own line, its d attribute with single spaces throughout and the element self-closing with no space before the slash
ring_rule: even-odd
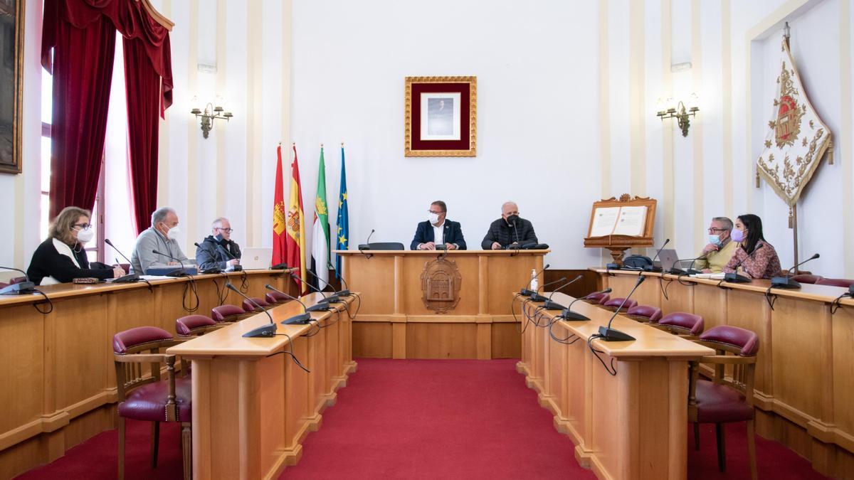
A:
<svg viewBox="0 0 854 480">
<path fill-rule="evenodd" d="M 825 153 L 833 163 L 833 143 L 828 126 L 806 97 L 787 40 L 780 65 L 769 132 L 757 160 L 757 188 L 761 175 L 791 210 Z"/>
</svg>

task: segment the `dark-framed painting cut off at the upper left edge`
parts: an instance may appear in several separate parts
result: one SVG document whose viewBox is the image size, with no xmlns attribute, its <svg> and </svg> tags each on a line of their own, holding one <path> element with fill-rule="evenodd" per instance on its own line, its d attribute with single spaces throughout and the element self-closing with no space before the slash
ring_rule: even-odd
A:
<svg viewBox="0 0 854 480">
<path fill-rule="evenodd" d="M 0 173 L 20 173 L 24 0 L 0 0 Z"/>
</svg>

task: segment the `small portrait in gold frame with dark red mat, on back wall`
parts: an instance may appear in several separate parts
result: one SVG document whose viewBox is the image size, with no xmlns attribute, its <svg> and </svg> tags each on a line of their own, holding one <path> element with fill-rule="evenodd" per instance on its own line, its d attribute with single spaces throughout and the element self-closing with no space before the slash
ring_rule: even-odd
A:
<svg viewBox="0 0 854 480">
<path fill-rule="evenodd" d="M 407 77 L 404 155 L 477 155 L 477 77 Z"/>
</svg>

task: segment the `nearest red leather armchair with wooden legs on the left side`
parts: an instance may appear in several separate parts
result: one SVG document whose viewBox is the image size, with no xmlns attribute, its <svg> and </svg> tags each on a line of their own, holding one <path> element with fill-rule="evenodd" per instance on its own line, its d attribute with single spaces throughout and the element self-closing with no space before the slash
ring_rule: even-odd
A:
<svg viewBox="0 0 854 480">
<path fill-rule="evenodd" d="M 180 422 L 184 448 L 184 478 L 192 466 L 192 401 L 190 378 L 175 375 L 175 355 L 161 354 L 161 348 L 177 345 L 169 332 L 152 326 L 120 331 L 113 337 L 113 360 L 119 396 L 119 478 L 125 477 L 125 420 L 151 422 L 151 466 L 157 466 L 160 422 Z M 161 364 L 167 378 L 161 379 Z M 150 367 L 146 377 L 146 366 Z"/>
</svg>

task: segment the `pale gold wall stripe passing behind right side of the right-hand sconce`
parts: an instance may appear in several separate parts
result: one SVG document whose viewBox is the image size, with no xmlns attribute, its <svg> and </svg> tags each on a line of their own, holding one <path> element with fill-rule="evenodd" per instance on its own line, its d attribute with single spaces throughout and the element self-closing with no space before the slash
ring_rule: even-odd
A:
<svg viewBox="0 0 854 480">
<path fill-rule="evenodd" d="M 700 0 L 691 2 L 691 72 L 693 91 L 703 90 L 703 38 L 700 26 Z M 693 137 L 693 251 L 697 252 L 705 245 L 702 235 L 705 227 L 703 210 L 703 122 L 692 119 L 691 132 Z"/>
</svg>

